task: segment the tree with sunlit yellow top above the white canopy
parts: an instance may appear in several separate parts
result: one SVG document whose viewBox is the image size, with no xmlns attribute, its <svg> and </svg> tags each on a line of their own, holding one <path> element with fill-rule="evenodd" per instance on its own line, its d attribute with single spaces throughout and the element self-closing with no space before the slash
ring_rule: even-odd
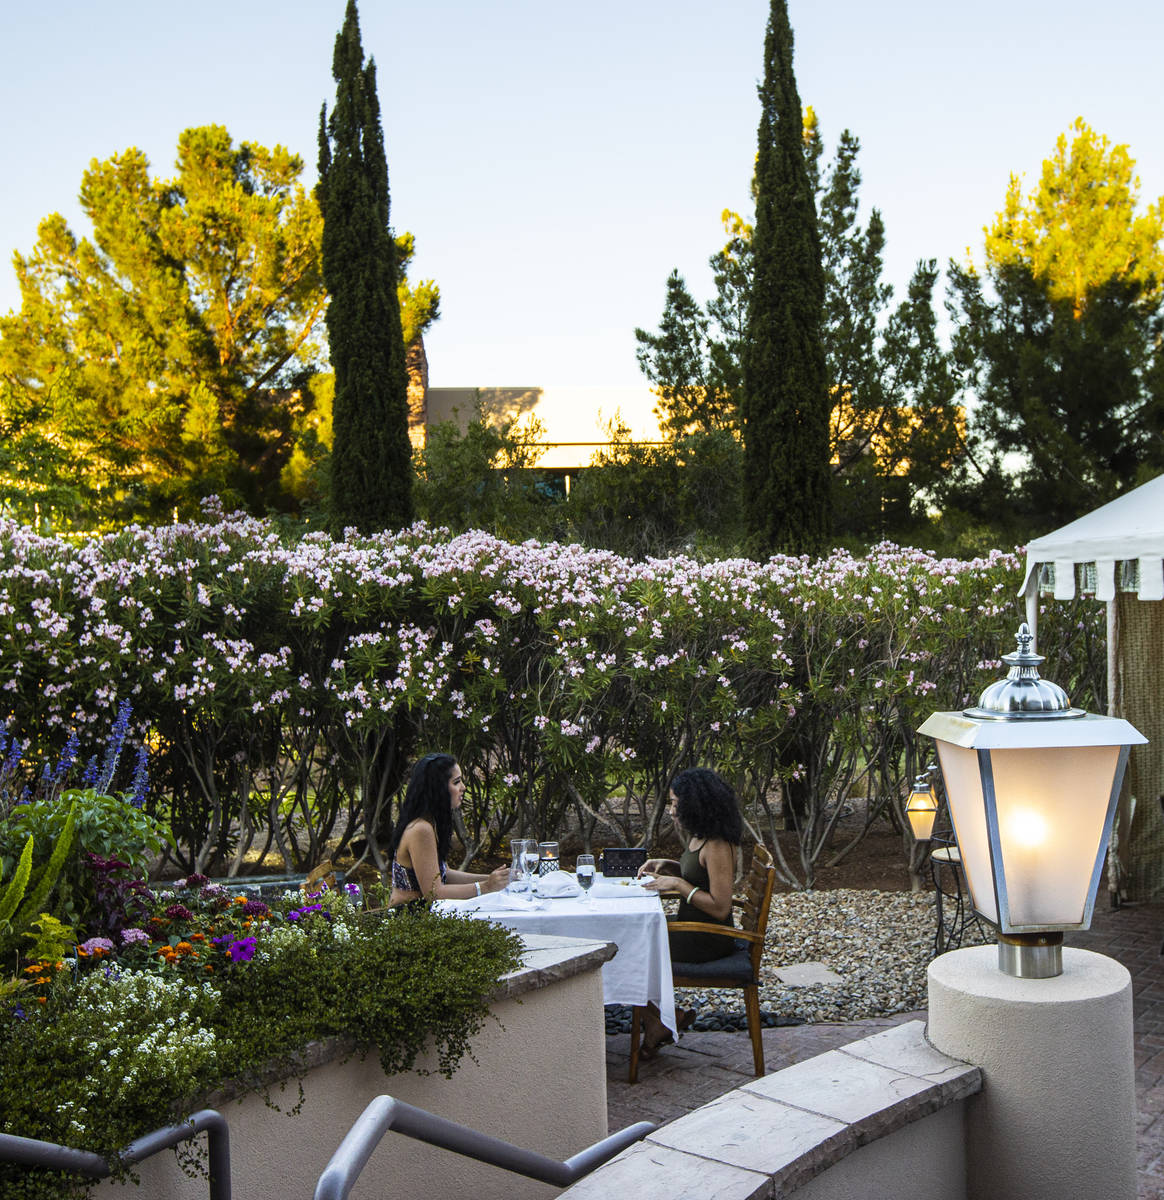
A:
<svg viewBox="0 0 1164 1200">
<path fill-rule="evenodd" d="M 1164 467 L 1164 227 L 1159 202 L 1138 203 L 1127 146 L 1079 119 L 1026 198 L 1012 176 L 984 270 L 950 264 L 954 349 L 979 401 L 967 506 L 1046 527 Z"/>
</svg>

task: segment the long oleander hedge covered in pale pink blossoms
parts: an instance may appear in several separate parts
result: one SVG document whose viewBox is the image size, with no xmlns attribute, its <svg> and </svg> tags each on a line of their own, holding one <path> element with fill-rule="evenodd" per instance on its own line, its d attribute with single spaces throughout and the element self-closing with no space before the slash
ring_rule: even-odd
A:
<svg viewBox="0 0 1164 1200">
<path fill-rule="evenodd" d="M 853 793 L 900 823 L 913 731 L 997 674 L 1019 582 L 1014 554 L 890 545 L 632 562 L 424 524 L 289 541 L 212 509 L 78 545 L 6 524 L 0 703 L 47 752 L 132 700 L 130 737 L 156 748 L 146 810 L 186 871 L 236 870 L 247 848 L 307 869 L 336 834 L 383 841 L 410 756 L 442 746 L 470 781 L 466 858 L 566 816 L 649 841 L 670 775 L 706 762 L 757 836 L 794 832 L 779 869 L 804 886 L 844 852 Z M 1088 707 L 1102 629 L 1085 601 L 1040 620 L 1048 676 Z"/>
</svg>

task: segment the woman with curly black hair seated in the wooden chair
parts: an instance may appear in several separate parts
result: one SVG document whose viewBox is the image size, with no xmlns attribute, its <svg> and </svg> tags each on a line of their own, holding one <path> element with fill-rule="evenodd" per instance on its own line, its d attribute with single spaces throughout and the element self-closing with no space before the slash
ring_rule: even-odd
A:
<svg viewBox="0 0 1164 1200">
<path fill-rule="evenodd" d="M 706 767 L 680 772 L 671 781 L 671 818 L 680 833 L 683 854 L 650 858 L 638 874 L 652 875 L 643 887 L 661 895 L 677 895 L 676 920 L 702 920 L 716 925 L 733 924 L 732 883 L 736 878 L 736 851 L 744 834 L 739 800 L 731 785 Z M 710 962 L 734 953 L 728 937 L 680 930 L 670 934 L 671 959 L 674 962 Z M 690 1025 L 694 1013 L 680 1012 L 679 1027 Z M 646 1031 L 641 1054 L 650 1058 L 660 1045 L 673 1042 L 671 1031 L 659 1018 L 659 1010 L 647 1007 Z"/>
</svg>

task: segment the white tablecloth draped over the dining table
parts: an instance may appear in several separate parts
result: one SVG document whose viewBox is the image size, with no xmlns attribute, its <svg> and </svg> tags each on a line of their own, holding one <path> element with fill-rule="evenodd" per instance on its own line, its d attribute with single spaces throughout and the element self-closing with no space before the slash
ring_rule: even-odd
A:
<svg viewBox="0 0 1164 1200">
<path fill-rule="evenodd" d="M 676 1032 L 667 920 L 658 895 L 643 895 L 635 887 L 604 886 L 599 878 L 589 900 L 539 900 L 535 907 L 528 899 L 505 892 L 480 900 L 438 900 L 433 908 L 496 920 L 518 934 L 614 942 L 618 953 L 602 967 L 604 1003 L 650 1001 L 658 1006 L 662 1024 Z"/>
</svg>

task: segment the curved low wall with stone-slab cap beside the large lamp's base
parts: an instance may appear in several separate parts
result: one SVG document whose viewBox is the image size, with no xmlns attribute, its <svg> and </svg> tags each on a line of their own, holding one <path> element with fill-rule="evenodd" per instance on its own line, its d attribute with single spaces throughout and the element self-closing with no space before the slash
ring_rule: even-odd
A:
<svg viewBox="0 0 1164 1200">
<path fill-rule="evenodd" d="M 964 1108 L 980 1086 L 911 1021 L 727 1092 L 562 1198 L 966 1200 Z"/>
</svg>

